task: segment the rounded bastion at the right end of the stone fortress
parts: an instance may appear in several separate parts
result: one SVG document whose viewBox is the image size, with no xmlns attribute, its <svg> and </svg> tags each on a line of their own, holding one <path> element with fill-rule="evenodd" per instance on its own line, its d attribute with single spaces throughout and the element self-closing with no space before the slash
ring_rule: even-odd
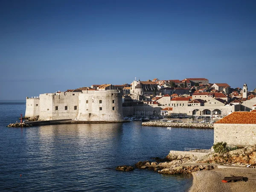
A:
<svg viewBox="0 0 256 192">
<path fill-rule="evenodd" d="M 81 121 L 122 121 L 122 93 L 116 90 L 82 91 L 79 94 L 77 119 Z"/>
</svg>

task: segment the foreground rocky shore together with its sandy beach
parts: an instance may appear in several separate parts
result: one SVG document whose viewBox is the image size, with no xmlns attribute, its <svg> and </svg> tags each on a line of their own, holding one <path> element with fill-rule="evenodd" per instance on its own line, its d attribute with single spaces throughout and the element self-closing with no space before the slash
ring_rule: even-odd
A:
<svg viewBox="0 0 256 192">
<path fill-rule="evenodd" d="M 247 165 L 256 165 L 256 145 L 238 148 L 227 153 L 209 153 L 170 151 L 164 159 L 155 158 L 155 162 L 139 161 L 138 169 L 148 169 L 160 174 L 193 175 L 190 192 L 253 192 L 256 189 L 256 169 Z M 125 167 L 125 166 L 122 166 Z M 126 169 L 119 169 L 129 171 Z M 130 169 L 130 171 L 133 169 Z M 222 183 L 224 177 L 243 176 L 246 181 Z"/>
</svg>

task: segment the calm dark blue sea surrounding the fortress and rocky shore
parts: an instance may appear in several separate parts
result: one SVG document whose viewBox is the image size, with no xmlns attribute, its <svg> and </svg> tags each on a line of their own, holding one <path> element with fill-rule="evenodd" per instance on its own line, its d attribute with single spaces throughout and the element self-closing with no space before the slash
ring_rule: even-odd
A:
<svg viewBox="0 0 256 192">
<path fill-rule="evenodd" d="M 192 182 L 189 174 L 115 167 L 213 143 L 213 130 L 167 130 L 141 122 L 7 128 L 25 109 L 25 101 L 0 101 L 1 192 L 185 191 Z"/>
</svg>

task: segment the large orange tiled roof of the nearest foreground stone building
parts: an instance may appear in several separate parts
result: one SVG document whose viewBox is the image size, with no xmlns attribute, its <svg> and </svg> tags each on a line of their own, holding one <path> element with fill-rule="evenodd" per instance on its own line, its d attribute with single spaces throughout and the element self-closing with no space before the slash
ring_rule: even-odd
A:
<svg viewBox="0 0 256 192">
<path fill-rule="evenodd" d="M 218 124 L 256 124 L 256 113 L 251 112 L 233 112 L 223 119 L 215 122 Z"/>
</svg>

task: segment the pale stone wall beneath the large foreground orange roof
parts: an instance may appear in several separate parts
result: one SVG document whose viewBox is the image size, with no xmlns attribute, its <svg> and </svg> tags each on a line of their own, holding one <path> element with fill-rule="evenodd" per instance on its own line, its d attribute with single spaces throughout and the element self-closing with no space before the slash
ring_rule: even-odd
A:
<svg viewBox="0 0 256 192">
<path fill-rule="evenodd" d="M 256 124 L 214 124 L 214 143 L 256 145 Z"/>
</svg>

